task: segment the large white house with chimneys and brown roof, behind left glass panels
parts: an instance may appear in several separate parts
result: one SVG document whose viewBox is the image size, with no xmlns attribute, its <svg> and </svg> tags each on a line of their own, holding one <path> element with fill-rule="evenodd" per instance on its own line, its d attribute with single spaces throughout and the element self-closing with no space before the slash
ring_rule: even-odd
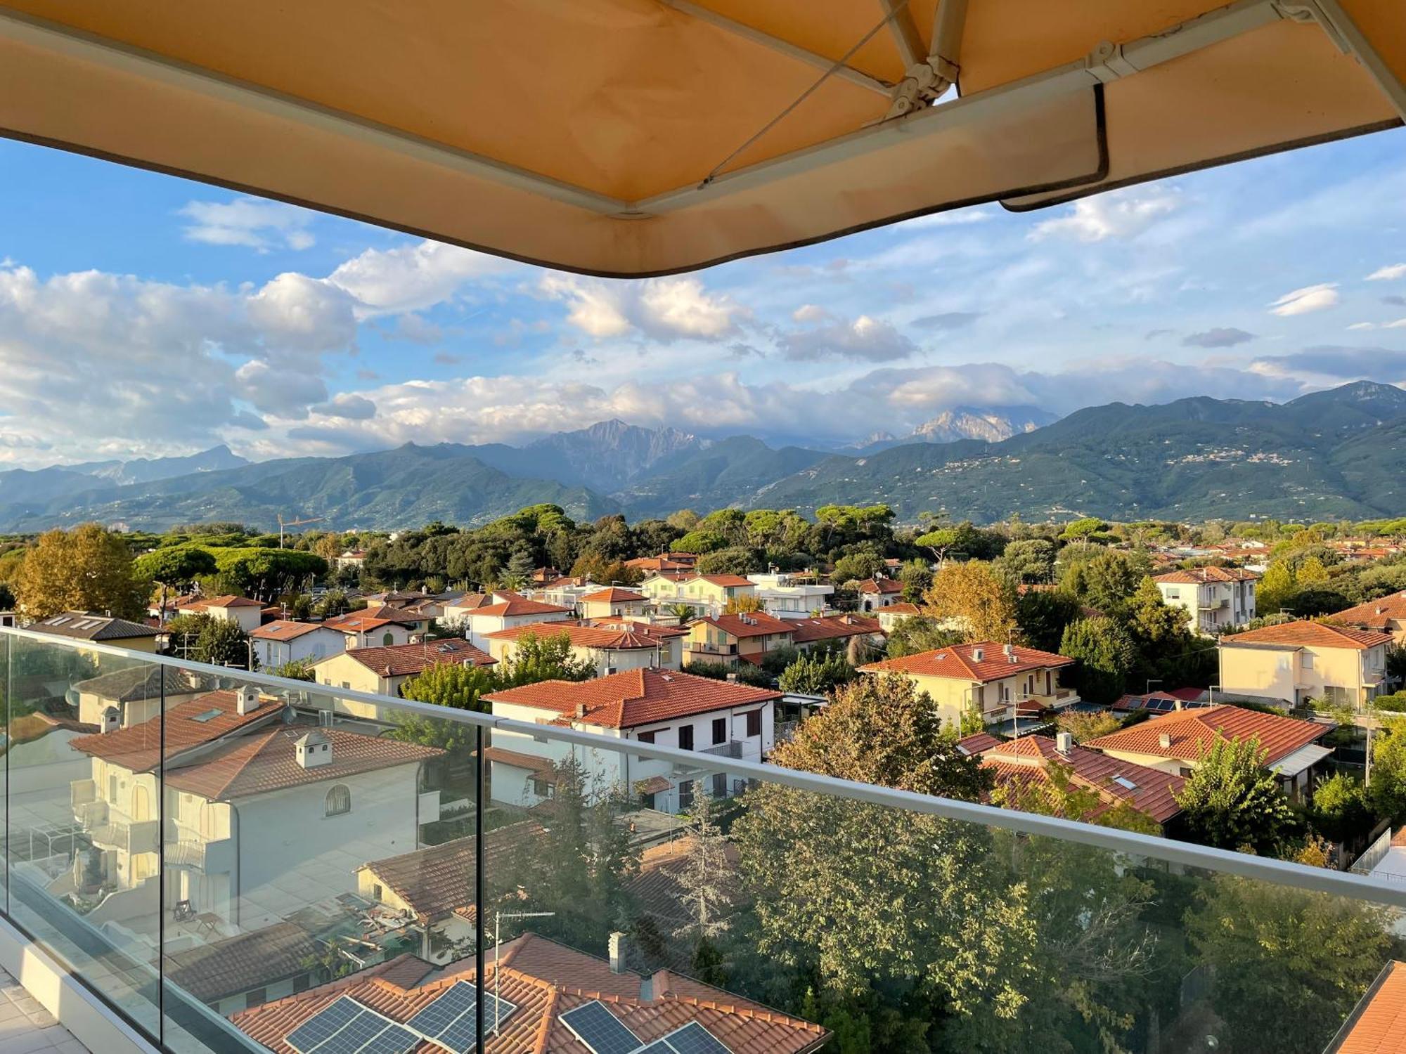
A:
<svg viewBox="0 0 1406 1054">
<path fill-rule="evenodd" d="M 162 736 L 149 722 L 114 724 L 72 741 L 91 759 L 90 776 L 70 786 L 73 814 L 121 898 L 104 904 L 107 918 L 156 911 L 162 881 L 169 909 L 187 902 L 235 926 L 266 925 L 274 919 L 242 898 L 277 884 L 278 911 L 301 906 L 284 888 L 301 866 L 328 876 L 304 904 L 350 892 L 350 868 L 328 861 L 413 846 L 419 825 L 439 819 L 437 793 L 419 787 L 420 766 L 441 750 L 290 725 L 288 713 L 245 686 L 169 710 Z"/>
</svg>

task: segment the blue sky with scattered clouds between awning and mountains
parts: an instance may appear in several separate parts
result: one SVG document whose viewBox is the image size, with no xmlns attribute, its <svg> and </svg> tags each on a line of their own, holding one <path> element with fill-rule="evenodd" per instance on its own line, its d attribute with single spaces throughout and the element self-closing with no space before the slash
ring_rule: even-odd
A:
<svg viewBox="0 0 1406 1054">
<path fill-rule="evenodd" d="M 957 406 L 1400 382 L 1403 146 L 605 281 L 0 141 L 0 464 L 520 443 L 609 417 L 828 447 Z"/>
</svg>

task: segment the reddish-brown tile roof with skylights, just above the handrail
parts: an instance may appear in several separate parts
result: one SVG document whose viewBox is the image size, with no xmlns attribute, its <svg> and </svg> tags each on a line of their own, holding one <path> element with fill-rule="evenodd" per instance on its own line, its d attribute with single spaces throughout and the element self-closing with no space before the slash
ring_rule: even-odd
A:
<svg viewBox="0 0 1406 1054">
<path fill-rule="evenodd" d="M 1187 781 L 1160 769 L 1123 762 L 1083 746 L 1062 753 L 1056 741 L 1046 735 L 1028 735 L 981 752 L 981 767 L 991 769 L 998 783 L 1047 783 L 1052 762 L 1067 766 L 1070 779 L 1097 791 L 1102 800 L 1102 805 L 1077 819 L 1094 819 L 1119 801 L 1130 801 L 1159 824 L 1181 812 L 1174 795 Z"/>
</svg>

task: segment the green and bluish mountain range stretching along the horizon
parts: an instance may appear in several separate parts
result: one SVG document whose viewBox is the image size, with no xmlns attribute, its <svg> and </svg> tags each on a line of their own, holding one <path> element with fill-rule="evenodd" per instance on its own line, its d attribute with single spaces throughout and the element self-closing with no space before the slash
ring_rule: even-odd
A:
<svg viewBox="0 0 1406 1054">
<path fill-rule="evenodd" d="M 972 417 L 991 429 L 991 441 L 941 441 L 950 434 L 943 429 L 977 427 Z M 405 528 L 485 523 L 536 502 L 631 520 L 683 507 L 813 512 L 831 502 L 886 502 L 910 521 L 936 509 L 977 521 L 1406 512 L 1406 391 L 1393 385 L 1357 382 L 1286 403 L 1198 396 L 1047 417 L 1032 408 L 953 410 L 904 440 L 842 453 L 619 420 L 526 447 L 406 444 L 253 464 L 217 447 L 193 458 L 0 472 L 0 531 L 87 520 L 273 527 L 278 513 L 335 528 Z"/>
</svg>

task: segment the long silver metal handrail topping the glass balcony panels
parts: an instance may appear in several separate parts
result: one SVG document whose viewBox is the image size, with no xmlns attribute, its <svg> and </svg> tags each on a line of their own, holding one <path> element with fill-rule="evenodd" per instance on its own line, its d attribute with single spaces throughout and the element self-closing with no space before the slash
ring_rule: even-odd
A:
<svg viewBox="0 0 1406 1054">
<path fill-rule="evenodd" d="M 232 680 L 240 680 L 250 684 L 263 684 L 278 689 L 280 691 L 314 691 L 316 694 L 368 703 L 377 707 L 392 707 L 395 710 L 418 714 L 426 718 L 458 721 L 465 725 L 479 725 L 482 728 L 515 732 L 536 739 L 555 739 L 558 742 L 574 743 L 576 746 L 595 750 L 630 753 L 692 769 L 700 767 L 699 760 L 709 757 L 709 755 L 703 755 L 696 750 L 679 750 L 672 746 L 657 746 L 654 743 L 643 743 L 637 739 L 616 739 L 613 736 L 603 736 L 595 732 L 581 732 L 574 728 L 515 721 L 512 718 L 494 717 L 492 714 L 439 707 L 430 703 L 395 698 L 392 696 L 380 696 L 371 691 L 359 691 L 356 689 L 340 689 L 332 684 L 316 684 L 307 680 L 290 680 L 287 677 L 274 677 L 266 673 L 250 673 L 249 670 L 229 669 L 224 666 L 207 666 L 204 663 L 191 662 L 188 659 L 177 659 L 169 655 L 134 652 L 125 648 L 90 644 L 87 641 L 73 641 L 53 634 L 34 632 L 31 630 L 20 630 L 15 627 L 0 627 L 0 638 L 6 637 L 28 639 L 51 646 L 69 648 L 72 651 L 112 655 L 128 662 L 155 662 L 172 666 L 173 669 L 184 669 L 205 676 L 229 677 Z M 969 824 L 980 824 L 990 828 L 1002 828 L 1024 835 L 1043 835 L 1115 853 L 1128 853 L 1154 860 L 1166 860 L 1185 867 L 1204 867 L 1206 870 L 1225 871 L 1244 878 L 1270 881 L 1277 885 L 1292 885 L 1302 890 L 1312 890 L 1315 892 L 1375 901 L 1378 904 L 1388 904 L 1395 908 L 1406 909 L 1406 888 L 1393 887 L 1386 883 L 1376 883 L 1375 880 L 1361 874 L 1309 867 L 1306 864 L 1298 864 L 1288 860 L 1275 860 L 1272 857 L 1237 853 L 1230 849 L 1212 849 L 1209 846 L 1199 846 L 1191 842 L 1177 842 L 1157 835 L 1142 835 L 1132 831 L 1098 826 L 1095 824 L 1083 824 L 1080 821 L 1064 819 L 1062 816 L 1046 816 L 1036 812 L 1005 809 L 997 805 L 983 805 L 980 802 L 939 798 L 928 794 L 917 794 L 914 791 L 896 790 L 893 787 L 880 787 L 870 783 L 856 783 L 853 780 L 842 780 L 834 776 L 823 776 L 799 769 L 783 769 L 766 762 L 727 759 L 727 765 L 718 765 L 717 767 L 730 774 L 748 776 L 766 783 L 776 783 L 814 794 L 849 798 L 852 801 L 862 801 L 870 805 L 883 805 L 907 812 L 966 821 Z"/>
</svg>

